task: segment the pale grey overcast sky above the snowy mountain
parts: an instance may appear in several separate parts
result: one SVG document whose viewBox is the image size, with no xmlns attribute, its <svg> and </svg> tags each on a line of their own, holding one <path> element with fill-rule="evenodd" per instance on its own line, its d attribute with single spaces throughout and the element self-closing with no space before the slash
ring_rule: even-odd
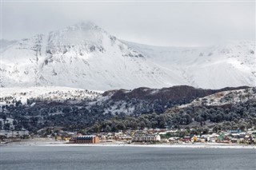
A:
<svg viewBox="0 0 256 170">
<path fill-rule="evenodd" d="M 90 20 L 148 45 L 255 40 L 255 2 L 2 2 L 2 38 L 18 40 Z"/>
</svg>

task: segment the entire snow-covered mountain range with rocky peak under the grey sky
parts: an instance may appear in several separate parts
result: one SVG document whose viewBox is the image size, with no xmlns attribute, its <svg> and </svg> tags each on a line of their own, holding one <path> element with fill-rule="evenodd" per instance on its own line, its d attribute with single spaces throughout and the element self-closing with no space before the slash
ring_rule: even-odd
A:
<svg viewBox="0 0 256 170">
<path fill-rule="evenodd" d="M 255 42 L 155 47 L 126 42 L 92 22 L 2 45 L 2 87 L 134 89 L 256 85 Z"/>
</svg>

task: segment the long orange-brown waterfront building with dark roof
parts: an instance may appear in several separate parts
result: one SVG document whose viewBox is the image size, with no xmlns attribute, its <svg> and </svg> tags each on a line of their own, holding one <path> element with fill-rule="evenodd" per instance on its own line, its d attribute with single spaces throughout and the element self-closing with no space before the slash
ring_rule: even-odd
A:
<svg viewBox="0 0 256 170">
<path fill-rule="evenodd" d="M 70 144 L 98 144 L 99 138 L 94 135 L 71 137 Z"/>
</svg>

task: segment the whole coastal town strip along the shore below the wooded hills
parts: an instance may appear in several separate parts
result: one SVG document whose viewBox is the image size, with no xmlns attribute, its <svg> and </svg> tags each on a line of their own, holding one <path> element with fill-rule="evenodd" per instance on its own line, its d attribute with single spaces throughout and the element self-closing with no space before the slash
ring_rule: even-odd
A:
<svg viewBox="0 0 256 170">
<path fill-rule="evenodd" d="M 202 130 L 202 131 L 200 131 Z M 256 144 L 254 128 L 242 131 L 226 130 L 213 132 L 213 129 L 148 129 L 119 132 L 65 132 L 58 128 L 47 128 L 49 134 L 43 136 L 23 132 L 0 132 L 1 144 L 21 143 L 32 140 L 53 140 L 63 144 Z"/>
</svg>

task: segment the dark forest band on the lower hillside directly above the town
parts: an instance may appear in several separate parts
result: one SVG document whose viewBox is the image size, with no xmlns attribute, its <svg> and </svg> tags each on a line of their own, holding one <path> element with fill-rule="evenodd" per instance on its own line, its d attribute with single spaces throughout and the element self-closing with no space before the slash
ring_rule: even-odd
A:
<svg viewBox="0 0 256 170">
<path fill-rule="evenodd" d="M 177 104 L 172 101 L 162 105 L 162 101 L 158 99 L 149 102 L 126 97 L 123 103 L 109 100 L 102 103 L 94 101 L 92 105 L 91 102 L 46 101 L 36 98 L 29 99 L 27 105 L 22 105 L 21 101 L 14 101 L 12 105 L 2 106 L 0 128 L 25 128 L 30 132 L 37 132 L 40 128 L 58 126 L 69 131 L 116 132 L 139 128 L 181 128 L 192 122 L 203 126 L 206 121 L 222 124 L 222 128 L 248 128 L 256 125 L 255 99 L 236 105 L 201 105 L 183 109 L 178 109 Z M 121 108 L 122 105 L 126 109 L 133 107 L 134 110 L 130 114 L 105 112 L 112 106 Z M 14 121 L 8 122 L 7 117 Z"/>
</svg>

